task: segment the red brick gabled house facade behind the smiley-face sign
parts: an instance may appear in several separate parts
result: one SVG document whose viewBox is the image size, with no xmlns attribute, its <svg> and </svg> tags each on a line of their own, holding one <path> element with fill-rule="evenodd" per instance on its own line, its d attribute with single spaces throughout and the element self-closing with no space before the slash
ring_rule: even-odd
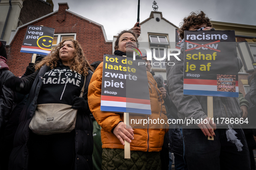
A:
<svg viewBox="0 0 256 170">
<path fill-rule="evenodd" d="M 32 54 L 20 53 L 28 25 L 43 25 L 55 28 L 58 35 L 75 35 L 81 44 L 89 63 L 103 61 L 103 54 L 112 54 L 112 41 L 107 40 L 104 27 L 96 22 L 68 11 L 68 3 L 58 3 L 59 8 L 53 13 L 42 16 L 16 29 L 15 36 L 6 46 L 7 64 L 15 76 L 22 76 L 31 62 Z"/>
</svg>

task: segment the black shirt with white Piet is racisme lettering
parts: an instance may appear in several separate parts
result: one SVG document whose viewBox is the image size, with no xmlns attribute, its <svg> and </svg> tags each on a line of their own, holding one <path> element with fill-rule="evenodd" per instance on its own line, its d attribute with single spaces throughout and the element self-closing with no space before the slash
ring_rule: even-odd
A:
<svg viewBox="0 0 256 170">
<path fill-rule="evenodd" d="M 84 76 L 59 63 L 55 69 L 45 72 L 37 104 L 71 105 L 74 96 L 79 97 L 83 85 Z"/>
</svg>

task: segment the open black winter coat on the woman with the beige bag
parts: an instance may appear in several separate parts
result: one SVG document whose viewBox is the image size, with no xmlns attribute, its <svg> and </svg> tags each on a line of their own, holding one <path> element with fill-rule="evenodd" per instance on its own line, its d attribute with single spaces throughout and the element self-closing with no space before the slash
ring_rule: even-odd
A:
<svg viewBox="0 0 256 170">
<path fill-rule="evenodd" d="M 29 91 L 27 102 L 24 106 L 19 118 L 19 126 L 16 131 L 13 143 L 13 151 L 10 155 L 9 169 L 10 170 L 27 170 L 29 164 L 29 123 L 32 116 L 35 114 L 37 107 L 37 98 L 39 91 L 42 87 L 42 80 L 45 72 L 49 70 L 49 66 L 42 66 L 38 72 L 32 87 Z M 37 72 L 35 72 L 37 73 Z M 33 76 L 33 73 L 31 76 Z M 88 72 L 83 98 L 87 100 L 88 86 L 91 80 L 93 72 Z M 29 79 L 27 76 L 24 80 Z M 26 80 L 25 87 L 31 83 Z M 90 112 L 90 110 L 86 110 Z M 77 120 L 75 125 L 75 170 L 92 170 L 92 152 L 93 152 L 93 125 L 89 113 L 77 114 Z"/>
</svg>

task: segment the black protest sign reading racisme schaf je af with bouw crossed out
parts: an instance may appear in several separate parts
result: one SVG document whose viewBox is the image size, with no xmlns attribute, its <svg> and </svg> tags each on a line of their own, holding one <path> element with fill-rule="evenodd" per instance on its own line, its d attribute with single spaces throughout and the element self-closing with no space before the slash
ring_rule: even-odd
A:
<svg viewBox="0 0 256 170">
<path fill-rule="evenodd" d="M 238 97 L 235 31 L 185 31 L 184 94 Z"/>
</svg>

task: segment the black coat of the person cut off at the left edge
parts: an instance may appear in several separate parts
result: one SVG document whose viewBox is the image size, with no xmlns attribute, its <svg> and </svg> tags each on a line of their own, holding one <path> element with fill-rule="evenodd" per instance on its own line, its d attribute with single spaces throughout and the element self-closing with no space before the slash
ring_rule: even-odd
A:
<svg viewBox="0 0 256 170">
<path fill-rule="evenodd" d="M 13 76 L 13 73 L 8 69 L 0 69 L 0 139 L 13 108 L 13 91 L 4 85 L 10 76 Z"/>
</svg>

